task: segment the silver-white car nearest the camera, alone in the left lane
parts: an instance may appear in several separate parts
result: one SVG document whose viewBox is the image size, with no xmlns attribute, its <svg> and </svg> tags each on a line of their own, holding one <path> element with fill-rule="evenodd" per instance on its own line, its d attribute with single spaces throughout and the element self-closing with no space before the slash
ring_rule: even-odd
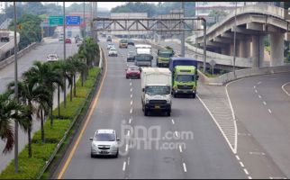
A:
<svg viewBox="0 0 290 180">
<path fill-rule="evenodd" d="M 113 156 L 118 157 L 119 148 L 115 130 L 96 130 L 94 138 L 90 138 L 91 145 L 91 157 L 97 155 L 100 156 Z"/>
</svg>

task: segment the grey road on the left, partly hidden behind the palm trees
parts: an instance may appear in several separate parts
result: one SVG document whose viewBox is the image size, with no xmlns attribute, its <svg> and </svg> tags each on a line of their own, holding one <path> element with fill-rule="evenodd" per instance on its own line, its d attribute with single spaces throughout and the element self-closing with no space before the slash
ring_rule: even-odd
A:
<svg viewBox="0 0 290 180">
<path fill-rule="evenodd" d="M 67 44 L 67 57 L 73 55 L 77 52 L 77 44 Z M 59 58 L 63 58 L 63 41 L 59 41 L 58 39 L 47 39 L 42 42 L 41 45 L 37 46 L 35 49 L 32 49 L 26 55 L 23 55 L 22 58 L 18 59 L 18 78 L 20 79 L 23 72 L 27 71 L 30 67 L 32 67 L 34 60 L 40 60 L 42 62 L 46 61 L 46 57 L 49 53 L 57 53 Z M 0 69 L 0 93 L 4 93 L 6 89 L 6 85 L 10 82 L 14 81 L 14 63 L 8 65 L 7 67 Z M 68 84 L 67 84 L 68 85 Z M 67 91 L 69 93 L 69 91 Z M 60 100 L 63 100 L 63 95 L 60 95 Z M 54 95 L 54 107 L 57 106 L 57 94 Z M 34 121 L 32 132 L 36 130 L 40 130 L 41 121 Z M 23 132 L 23 130 L 19 130 L 19 152 L 25 147 L 27 144 L 27 134 Z M 5 142 L 0 141 L 0 149 L 1 151 L 5 147 Z M 5 169 L 5 166 L 9 164 L 11 159 L 14 158 L 14 150 L 11 153 L 7 153 L 4 155 L 0 153 L 0 172 Z"/>
</svg>

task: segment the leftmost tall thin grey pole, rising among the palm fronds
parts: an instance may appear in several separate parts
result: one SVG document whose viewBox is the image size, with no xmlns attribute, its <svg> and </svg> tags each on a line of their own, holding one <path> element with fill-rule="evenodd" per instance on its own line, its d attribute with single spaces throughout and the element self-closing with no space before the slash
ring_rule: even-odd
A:
<svg viewBox="0 0 290 180">
<path fill-rule="evenodd" d="M 18 74 L 17 74 L 17 21 L 16 21 L 16 3 L 14 2 L 14 94 L 15 100 L 18 99 Z M 18 121 L 15 121 L 14 126 L 14 172 L 18 173 Z"/>
</svg>

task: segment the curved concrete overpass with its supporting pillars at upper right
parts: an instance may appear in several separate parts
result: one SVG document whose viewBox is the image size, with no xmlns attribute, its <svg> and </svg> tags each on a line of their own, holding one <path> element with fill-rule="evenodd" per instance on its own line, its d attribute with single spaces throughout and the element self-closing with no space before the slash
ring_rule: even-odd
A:
<svg viewBox="0 0 290 180">
<path fill-rule="evenodd" d="M 251 62 L 251 67 L 263 67 L 263 38 L 270 35 L 270 66 L 284 63 L 285 33 L 290 30 L 284 19 L 284 9 L 272 5 L 247 5 L 228 14 L 222 22 L 215 23 L 206 31 L 206 49 L 213 53 L 231 57 L 233 55 L 233 34 L 236 31 L 236 62 Z M 204 35 L 199 33 L 196 42 L 204 47 Z M 238 62 L 239 63 L 239 62 Z M 249 65 L 245 66 L 249 67 Z"/>
</svg>

